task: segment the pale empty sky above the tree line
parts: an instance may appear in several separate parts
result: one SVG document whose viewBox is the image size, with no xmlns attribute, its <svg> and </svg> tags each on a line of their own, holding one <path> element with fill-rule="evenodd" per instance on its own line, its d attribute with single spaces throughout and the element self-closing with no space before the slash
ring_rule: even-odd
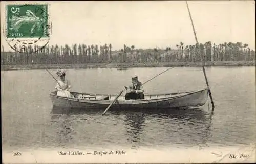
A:
<svg viewBox="0 0 256 164">
<path fill-rule="evenodd" d="M 1 1 L 1 48 L 11 50 L 3 35 L 6 4 Z M 185 1 L 72 1 L 49 4 L 50 45 L 112 44 L 112 50 L 176 48 L 195 44 Z M 198 41 L 247 43 L 255 50 L 254 1 L 188 1 Z"/>
</svg>

